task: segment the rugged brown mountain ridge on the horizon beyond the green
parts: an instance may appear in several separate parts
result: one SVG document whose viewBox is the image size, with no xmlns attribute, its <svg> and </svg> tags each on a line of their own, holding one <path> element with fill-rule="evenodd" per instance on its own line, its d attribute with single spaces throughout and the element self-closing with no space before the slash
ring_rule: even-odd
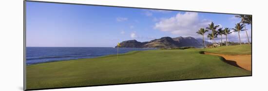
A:
<svg viewBox="0 0 268 91">
<path fill-rule="evenodd" d="M 202 40 L 200 42 L 200 39 L 195 39 L 191 36 L 188 37 L 179 36 L 174 38 L 166 36 L 161 37 L 159 39 L 153 39 L 149 42 L 127 40 L 120 43 L 120 47 L 125 48 L 178 48 L 178 47 L 202 47 L 202 46 L 203 46 Z"/>
</svg>

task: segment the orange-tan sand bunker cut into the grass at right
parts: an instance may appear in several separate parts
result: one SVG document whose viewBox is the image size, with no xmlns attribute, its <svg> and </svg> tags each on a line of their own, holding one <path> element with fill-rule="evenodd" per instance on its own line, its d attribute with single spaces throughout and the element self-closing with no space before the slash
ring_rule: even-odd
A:
<svg viewBox="0 0 268 91">
<path fill-rule="evenodd" d="M 222 56 L 226 59 L 225 62 L 229 63 L 230 65 L 251 71 L 251 55 L 221 55 L 208 52 L 204 52 L 204 54 Z"/>
</svg>

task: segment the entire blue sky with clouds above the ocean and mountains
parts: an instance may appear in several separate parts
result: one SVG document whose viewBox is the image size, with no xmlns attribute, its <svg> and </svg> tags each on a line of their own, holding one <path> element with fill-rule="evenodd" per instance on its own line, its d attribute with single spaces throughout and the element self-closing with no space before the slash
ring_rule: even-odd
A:
<svg viewBox="0 0 268 91">
<path fill-rule="evenodd" d="M 228 14 L 26 2 L 26 46 L 114 47 L 131 39 L 143 42 L 163 36 L 201 38 L 195 32 L 211 21 L 233 28 L 240 18 Z M 247 25 L 247 29 L 251 37 L 251 26 Z M 245 31 L 240 36 L 246 42 Z M 228 38 L 238 42 L 237 33 Z"/>
</svg>

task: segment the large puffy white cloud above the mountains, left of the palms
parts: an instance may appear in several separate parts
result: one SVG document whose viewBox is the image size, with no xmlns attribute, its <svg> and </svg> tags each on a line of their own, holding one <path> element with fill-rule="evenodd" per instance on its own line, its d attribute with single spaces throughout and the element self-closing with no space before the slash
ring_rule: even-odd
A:
<svg viewBox="0 0 268 91">
<path fill-rule="evenodd" d="M 186 12 L 184 14 L 178 13 L 176 16 L 166 19 L 161 19 L 155 23 L 154 29 L 160 31 L 170 32 L 178 36 L 193 36 L 201 37 L 196 34 L 200 28 L 206 28 L 211 20 L 199 20 L 198 13 Z"/>
</svg>

